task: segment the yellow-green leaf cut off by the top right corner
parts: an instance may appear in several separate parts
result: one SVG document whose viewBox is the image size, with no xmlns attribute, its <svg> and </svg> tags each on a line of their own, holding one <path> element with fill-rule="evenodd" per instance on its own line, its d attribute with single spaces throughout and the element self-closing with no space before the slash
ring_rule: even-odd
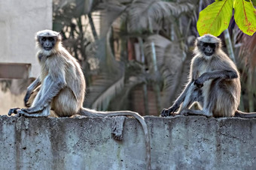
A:
<svg viewBox="0 0 256 170">
<path fill-rule="evenodd" d="M 234 1 L 234 18 L 236 25 L 248 35 L 256 31 L 256 10 L 249 1 Z"/>
</svg>

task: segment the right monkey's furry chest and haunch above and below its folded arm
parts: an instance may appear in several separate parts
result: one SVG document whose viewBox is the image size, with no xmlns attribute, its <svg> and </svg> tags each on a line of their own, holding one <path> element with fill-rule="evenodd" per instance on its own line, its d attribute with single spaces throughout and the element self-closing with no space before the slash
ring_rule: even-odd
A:
<svg viewBox="0 0 256 170">
<path fill-rule="evenodd" d="M 192 73 L 194 73 L 194 80 L 196 80 L 204 73 L 214 73 L 215 71 L 224 70 L 237 71 L 236 67 L 232 64 L 228 64 L 227 61 L 213 58 L 212 60 L 201 60 L 198 62 L 196 69 L 192 70 Z M 212 114 L 215 117 L 223 115 L 230 117 L 234 114 L 239 105 L 239 79 L 225 79 L 221 77 L 207 79 L 203 82 L 201 91 L 203 94 L 203 109 L 205 112 Z"/>
</svg>

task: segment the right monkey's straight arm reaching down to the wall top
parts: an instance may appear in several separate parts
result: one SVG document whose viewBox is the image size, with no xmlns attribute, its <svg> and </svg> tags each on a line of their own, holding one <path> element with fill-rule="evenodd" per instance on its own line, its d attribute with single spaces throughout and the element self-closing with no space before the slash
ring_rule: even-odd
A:
<svg viewBox="0 0 256 170">
<path fill-rule="evenodd" d="M 190 88 L 190 85 L 193 84 L 193 80 L 191 80 L 189 83 L 187 83 L 186 87 L 184 88 L 184 91 L 182 91 L 181 95 L 175 100 L 175 103 L 173 103 L 172 106 L 169 107 L 169 109 L 163 109 L 161 112 L 162 117 L 170 116 L 171 113 L 175 112 L 181 103 L 184 101 L 184 98 L 187 95 L 187 91 Z"/>
</svg>

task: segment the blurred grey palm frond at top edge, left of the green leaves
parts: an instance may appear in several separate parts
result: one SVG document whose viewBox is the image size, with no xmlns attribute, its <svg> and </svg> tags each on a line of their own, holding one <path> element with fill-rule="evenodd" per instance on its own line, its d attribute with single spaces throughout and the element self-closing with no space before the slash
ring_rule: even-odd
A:
<svg viewBox="0 0 256 170">
<path fill-rule="evenodd" d="M 163 19 L 171 19 L 194 8 L 190 3 L 175 3 L 160 0 L 137 0 L 128 11 L 128 31 L 142 31 L 154 25 L 159 29 Z"/>
</svg>

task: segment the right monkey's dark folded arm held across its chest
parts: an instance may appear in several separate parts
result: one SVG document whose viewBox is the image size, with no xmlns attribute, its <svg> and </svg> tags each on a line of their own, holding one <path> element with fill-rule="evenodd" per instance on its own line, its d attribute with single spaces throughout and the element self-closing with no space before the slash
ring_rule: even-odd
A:
<svg viewBox="0 0 256 170">
<path fill-rule="evenodd" d="M 203 83 L 209 79 L 236 79 L 238 78 L 238 73 L 234 70 L 215 70 L 203 73 L 198 79 L 195 80 L 194 84 L 199 88 L 203 86 Z"/>
</svg>

